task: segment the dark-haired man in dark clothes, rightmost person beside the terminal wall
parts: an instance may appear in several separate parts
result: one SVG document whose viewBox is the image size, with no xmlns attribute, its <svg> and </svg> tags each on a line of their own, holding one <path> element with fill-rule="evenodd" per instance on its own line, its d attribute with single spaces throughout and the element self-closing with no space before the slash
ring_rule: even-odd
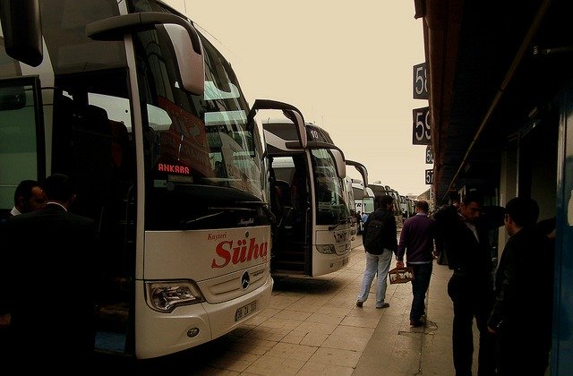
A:
<svg viewBox="0 0 573 376">
<path fill-rule="evenodd" d="M 543 376 L 552 343 L 553 250 L 535 228 L 539 206 L 517 197 L 506 205 L 508 243 L 496 272 L 491 333 L 497 335 L 498 375 Z"/>
</svg>

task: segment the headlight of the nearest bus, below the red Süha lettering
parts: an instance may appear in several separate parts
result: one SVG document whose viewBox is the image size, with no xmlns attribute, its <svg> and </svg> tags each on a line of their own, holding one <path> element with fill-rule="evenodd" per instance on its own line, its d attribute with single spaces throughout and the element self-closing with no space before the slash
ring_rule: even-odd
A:
<svg viewBox="0 0 573 376">
<path fill-rule="evenodd" d="M 153 281 L 145 283 L 146 300 L 158 312 L 172 312 L 175 307 L 205 301 L 199 287 L 192 281 Z"/>
</svg>

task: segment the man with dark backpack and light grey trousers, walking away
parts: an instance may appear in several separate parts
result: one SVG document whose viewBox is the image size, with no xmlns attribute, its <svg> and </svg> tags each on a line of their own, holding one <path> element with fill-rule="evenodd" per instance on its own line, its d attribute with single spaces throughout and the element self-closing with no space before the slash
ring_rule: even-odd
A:
<svg viewBox="0 0 573 376">
<path fill-rule="evenodd" d="M 356 306 L 362 307 L 368 299 L 374 276 L 378 273 L 376 308 L 389 307 L 384 302 L 392 254 L 398 251 L 396 218 L 393 214 L 394 199 L 385 195 L 380 199 L 378 209 L 368 215 L 363 228 L 363 245 L 366 251 L 366 268 Z"/>
</svg>

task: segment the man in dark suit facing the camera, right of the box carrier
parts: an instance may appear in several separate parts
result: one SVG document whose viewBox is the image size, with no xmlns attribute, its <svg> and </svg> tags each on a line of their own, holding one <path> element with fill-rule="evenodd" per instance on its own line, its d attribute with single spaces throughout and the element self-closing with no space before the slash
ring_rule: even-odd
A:
<svg viewBox="0 0 573 376">
<path fill-rule="evenodd" d="M 466 194 L 458 212 L 434 216 L 453 275 L 448 295 L 454 304 L 452 349 L 456 375 L 471 375 L 474 353 L 474 318 L 479 330 L 478 375 L 495 374 L 495 340 L 487 329 L 492 312 L 493 278 L 489 228 L 480 218 L 481 200 Z"/>
</svg>

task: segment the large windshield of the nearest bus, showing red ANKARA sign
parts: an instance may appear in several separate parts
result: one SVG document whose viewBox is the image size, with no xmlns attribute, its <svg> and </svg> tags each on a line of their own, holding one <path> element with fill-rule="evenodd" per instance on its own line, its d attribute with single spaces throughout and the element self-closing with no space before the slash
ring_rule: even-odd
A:
<svg viewBox="0 0 573 376">
<path fill-rule="evenodd" d="M 134 12 L 162 12 L 159 4 L 133 1 Z M 146 228 L 221 226 L 197 221 L 221 208 L 262 202 L 266 176 L 256 127 L 245 126 L 248 104 L 231 65 L 200 33 L 205 60 L 205 93 L 193 95 L 179 85 L 173 61 L 163 51 L 158 30 L 134 35 L 140 69 L 141 101 L 148 108 L 143 123 L 147 179 Z M 243 213 L 247 209 L 244 208 Z M 236 210 L 235 210 L 236 211 Z M 232 225 L 236 218 L 228 218 Z M 197 228 L 197 227 L 193 227 Z"/>
</svg>

